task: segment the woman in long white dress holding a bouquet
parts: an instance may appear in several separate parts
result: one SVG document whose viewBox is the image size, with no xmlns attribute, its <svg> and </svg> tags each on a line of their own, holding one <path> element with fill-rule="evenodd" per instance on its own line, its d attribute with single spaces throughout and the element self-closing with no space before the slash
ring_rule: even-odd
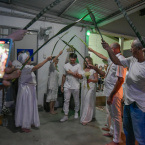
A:
<svg viewBox="0 0 145 145">
<path fill-rule="evenodd" d="M 93 64 L 92 58 L 85 58 L 88 64 Z M 98 74 L 84 62 L 83 81 L 81 86 L 81 120 L 83 125 L 90 122 L 95 115 L 96 83 Z"/>
</svg>

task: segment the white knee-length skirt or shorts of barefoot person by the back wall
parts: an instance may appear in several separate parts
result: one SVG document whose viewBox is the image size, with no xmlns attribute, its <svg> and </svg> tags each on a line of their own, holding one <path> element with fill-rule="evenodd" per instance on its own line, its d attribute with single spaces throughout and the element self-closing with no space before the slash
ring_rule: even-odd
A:
<svg viewBox="0 0 145 145">
<path fill-rule="evenodd" d="M 48 90 L 46 102 L 52 102 L 57 100 L 57 93 L 58 91 L 55 90 Z"/>
</svg>

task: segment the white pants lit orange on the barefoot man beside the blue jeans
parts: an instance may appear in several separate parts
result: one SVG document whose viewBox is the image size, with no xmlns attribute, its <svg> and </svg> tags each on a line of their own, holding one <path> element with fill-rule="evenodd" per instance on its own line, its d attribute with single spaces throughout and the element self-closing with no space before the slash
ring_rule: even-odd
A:
<svg viewBox="0 0 145 145">
<path fill-rule="evenodd" d="M 121 119 L 121 100 L 123 94 L 116 93 L 113 98 L 112 105 L 107 104 L 107 108 L 111 115 L 111 126 L 110 134 L 113 135 L 113 141 L 119 143 L 121 141 L 121 129 L 122 129 L 122 119 Z"/>
</svg>

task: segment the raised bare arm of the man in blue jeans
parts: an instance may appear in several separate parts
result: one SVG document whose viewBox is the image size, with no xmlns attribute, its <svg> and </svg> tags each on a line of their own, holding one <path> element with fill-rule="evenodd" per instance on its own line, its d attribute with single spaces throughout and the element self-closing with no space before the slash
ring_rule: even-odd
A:
<svg viewBox="0 0 145 145">
<path fill-rule="evenodd" d="M 110 59 L 112 60 L 112 62 L 116 65 L 121 65 L 120 60 L 116 57 L 116 55 L 113 53 L 113 51 L 111 50 L 110 46 L 108 43 L 106 43 L 105 41 L 102 41 L 102 46 L 104 49 L 106 49 L 106 51 L 109 54 Z"/>
</svg>

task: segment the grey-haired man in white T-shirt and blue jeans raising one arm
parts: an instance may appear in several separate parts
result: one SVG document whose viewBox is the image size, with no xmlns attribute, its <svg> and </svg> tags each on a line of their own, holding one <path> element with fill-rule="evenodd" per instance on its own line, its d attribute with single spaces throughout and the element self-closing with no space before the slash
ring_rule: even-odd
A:
<svg viewBox="0 0 145 145">
<path fill-rule="evenodd" d="M 135 39 L 131 45 L 133 56 L 119 60 L 105 41 L 102 42 L 102 45 L 116 65 L 129 68 L 125 84 L 123 116 L 126 145 L 135 145 L 135 139 L 139 145 L 145 145 L 145 58 L 143 46 L 139 39 Z"/>
</svg>

